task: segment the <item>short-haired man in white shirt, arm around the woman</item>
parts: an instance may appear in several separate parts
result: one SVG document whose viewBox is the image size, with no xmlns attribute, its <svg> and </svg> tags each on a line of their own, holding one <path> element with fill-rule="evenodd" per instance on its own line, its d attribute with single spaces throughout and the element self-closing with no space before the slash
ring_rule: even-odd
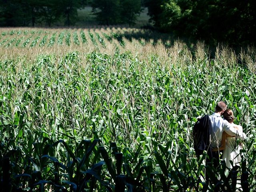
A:
<svg viewBox="0 0 256 192">
<path fill-rule="evenodd" d="M 220 101 L 217 103 L 215 107 L 215 112 L 209 116 L 212 124 L 211 144 L 210 144 L 211 148 L 220 147 L 223 131 L 225 131 L 227 134 L 231 136 L 237 135 L 242 140 L 246 139 L 246 135 L 243 132 L 236 130 L 234 127 L 231 126 L 231 124 L 227 120 L 224 120 L 221 117 L 221 115 L 226 109 L 227 109 L 226 104 Z M 212 158 L 216 158 L 216 161 L 214 162 L 214 166 L 216 167 L 219 161 L 219 151 L 211 152 L 211 154 L 209 154 L 209 160 L 211 160 Z"/>
</svg>

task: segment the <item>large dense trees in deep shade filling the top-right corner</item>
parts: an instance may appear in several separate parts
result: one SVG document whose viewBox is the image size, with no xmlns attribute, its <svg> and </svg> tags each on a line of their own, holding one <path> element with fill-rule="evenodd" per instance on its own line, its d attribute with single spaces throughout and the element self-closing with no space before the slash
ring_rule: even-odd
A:
<svg viewBox="0 0 256 192">
<path fill-rule="evenodd" d="M 146 0 L 154 26 L 210 43 L 256 42 L 255 0 Z"/>
</svg>

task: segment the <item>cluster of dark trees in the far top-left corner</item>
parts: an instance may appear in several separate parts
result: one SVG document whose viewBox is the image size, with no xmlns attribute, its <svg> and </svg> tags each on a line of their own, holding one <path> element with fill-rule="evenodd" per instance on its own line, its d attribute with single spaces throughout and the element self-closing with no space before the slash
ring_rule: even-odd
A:
<svg viewBox="0 0 256 192">
<path fill-rule="evenodd" d="M 34 26 L 42 22 L 51 26 L 62 16 L 70 26 L 82 6 L 81 0 L 0 0 L 0 26 Z"/>
</svg>

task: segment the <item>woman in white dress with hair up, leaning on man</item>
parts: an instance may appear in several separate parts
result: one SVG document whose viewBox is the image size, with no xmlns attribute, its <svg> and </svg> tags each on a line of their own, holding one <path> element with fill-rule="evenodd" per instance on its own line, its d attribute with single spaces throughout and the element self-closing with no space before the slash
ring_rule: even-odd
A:
<svg viewBox="0 0 256 192">
<path fill-rule="evenodd" d="M 233 123 L 234 121 L 234 114 L 231 109 L 227 109 L 223 113 L 223 117 L 225 120 L 227 120 L 232 126 L 237 129 L 238 131 L 243 131 L 242 126 L 236 125 Z M 223 150 L 222 159 L 225 160 L 226 166 L 228 168 L 232 168 L 233 165 L 239 164 L 241 162 L 241 156 L 240 156 L 240 144 L 237 143 L 237 137 L 236 136 L 230 136 L 226 132 L 223 132 L 222 134 L 222 141 L 221 141 L 221 147 L 214 149 L 215 150 Z M 230 163 L 230 160 L 233 161 L 233 164 Z"/>
</svg>

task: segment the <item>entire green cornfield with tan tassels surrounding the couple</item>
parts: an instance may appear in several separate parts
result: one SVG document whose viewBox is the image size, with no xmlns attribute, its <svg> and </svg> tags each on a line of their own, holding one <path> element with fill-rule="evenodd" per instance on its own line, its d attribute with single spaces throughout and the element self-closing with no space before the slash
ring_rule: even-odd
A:
<svg viewBox="0 0 256 192">
<path fill-rule="evenodd" d="M 135 28 L 0 29 L 0 191 L 256 190 L 256 50 L 211 55 Z M 248 137 L 228 174 L 191 139 L 220 100 Z"/>
</svg>

